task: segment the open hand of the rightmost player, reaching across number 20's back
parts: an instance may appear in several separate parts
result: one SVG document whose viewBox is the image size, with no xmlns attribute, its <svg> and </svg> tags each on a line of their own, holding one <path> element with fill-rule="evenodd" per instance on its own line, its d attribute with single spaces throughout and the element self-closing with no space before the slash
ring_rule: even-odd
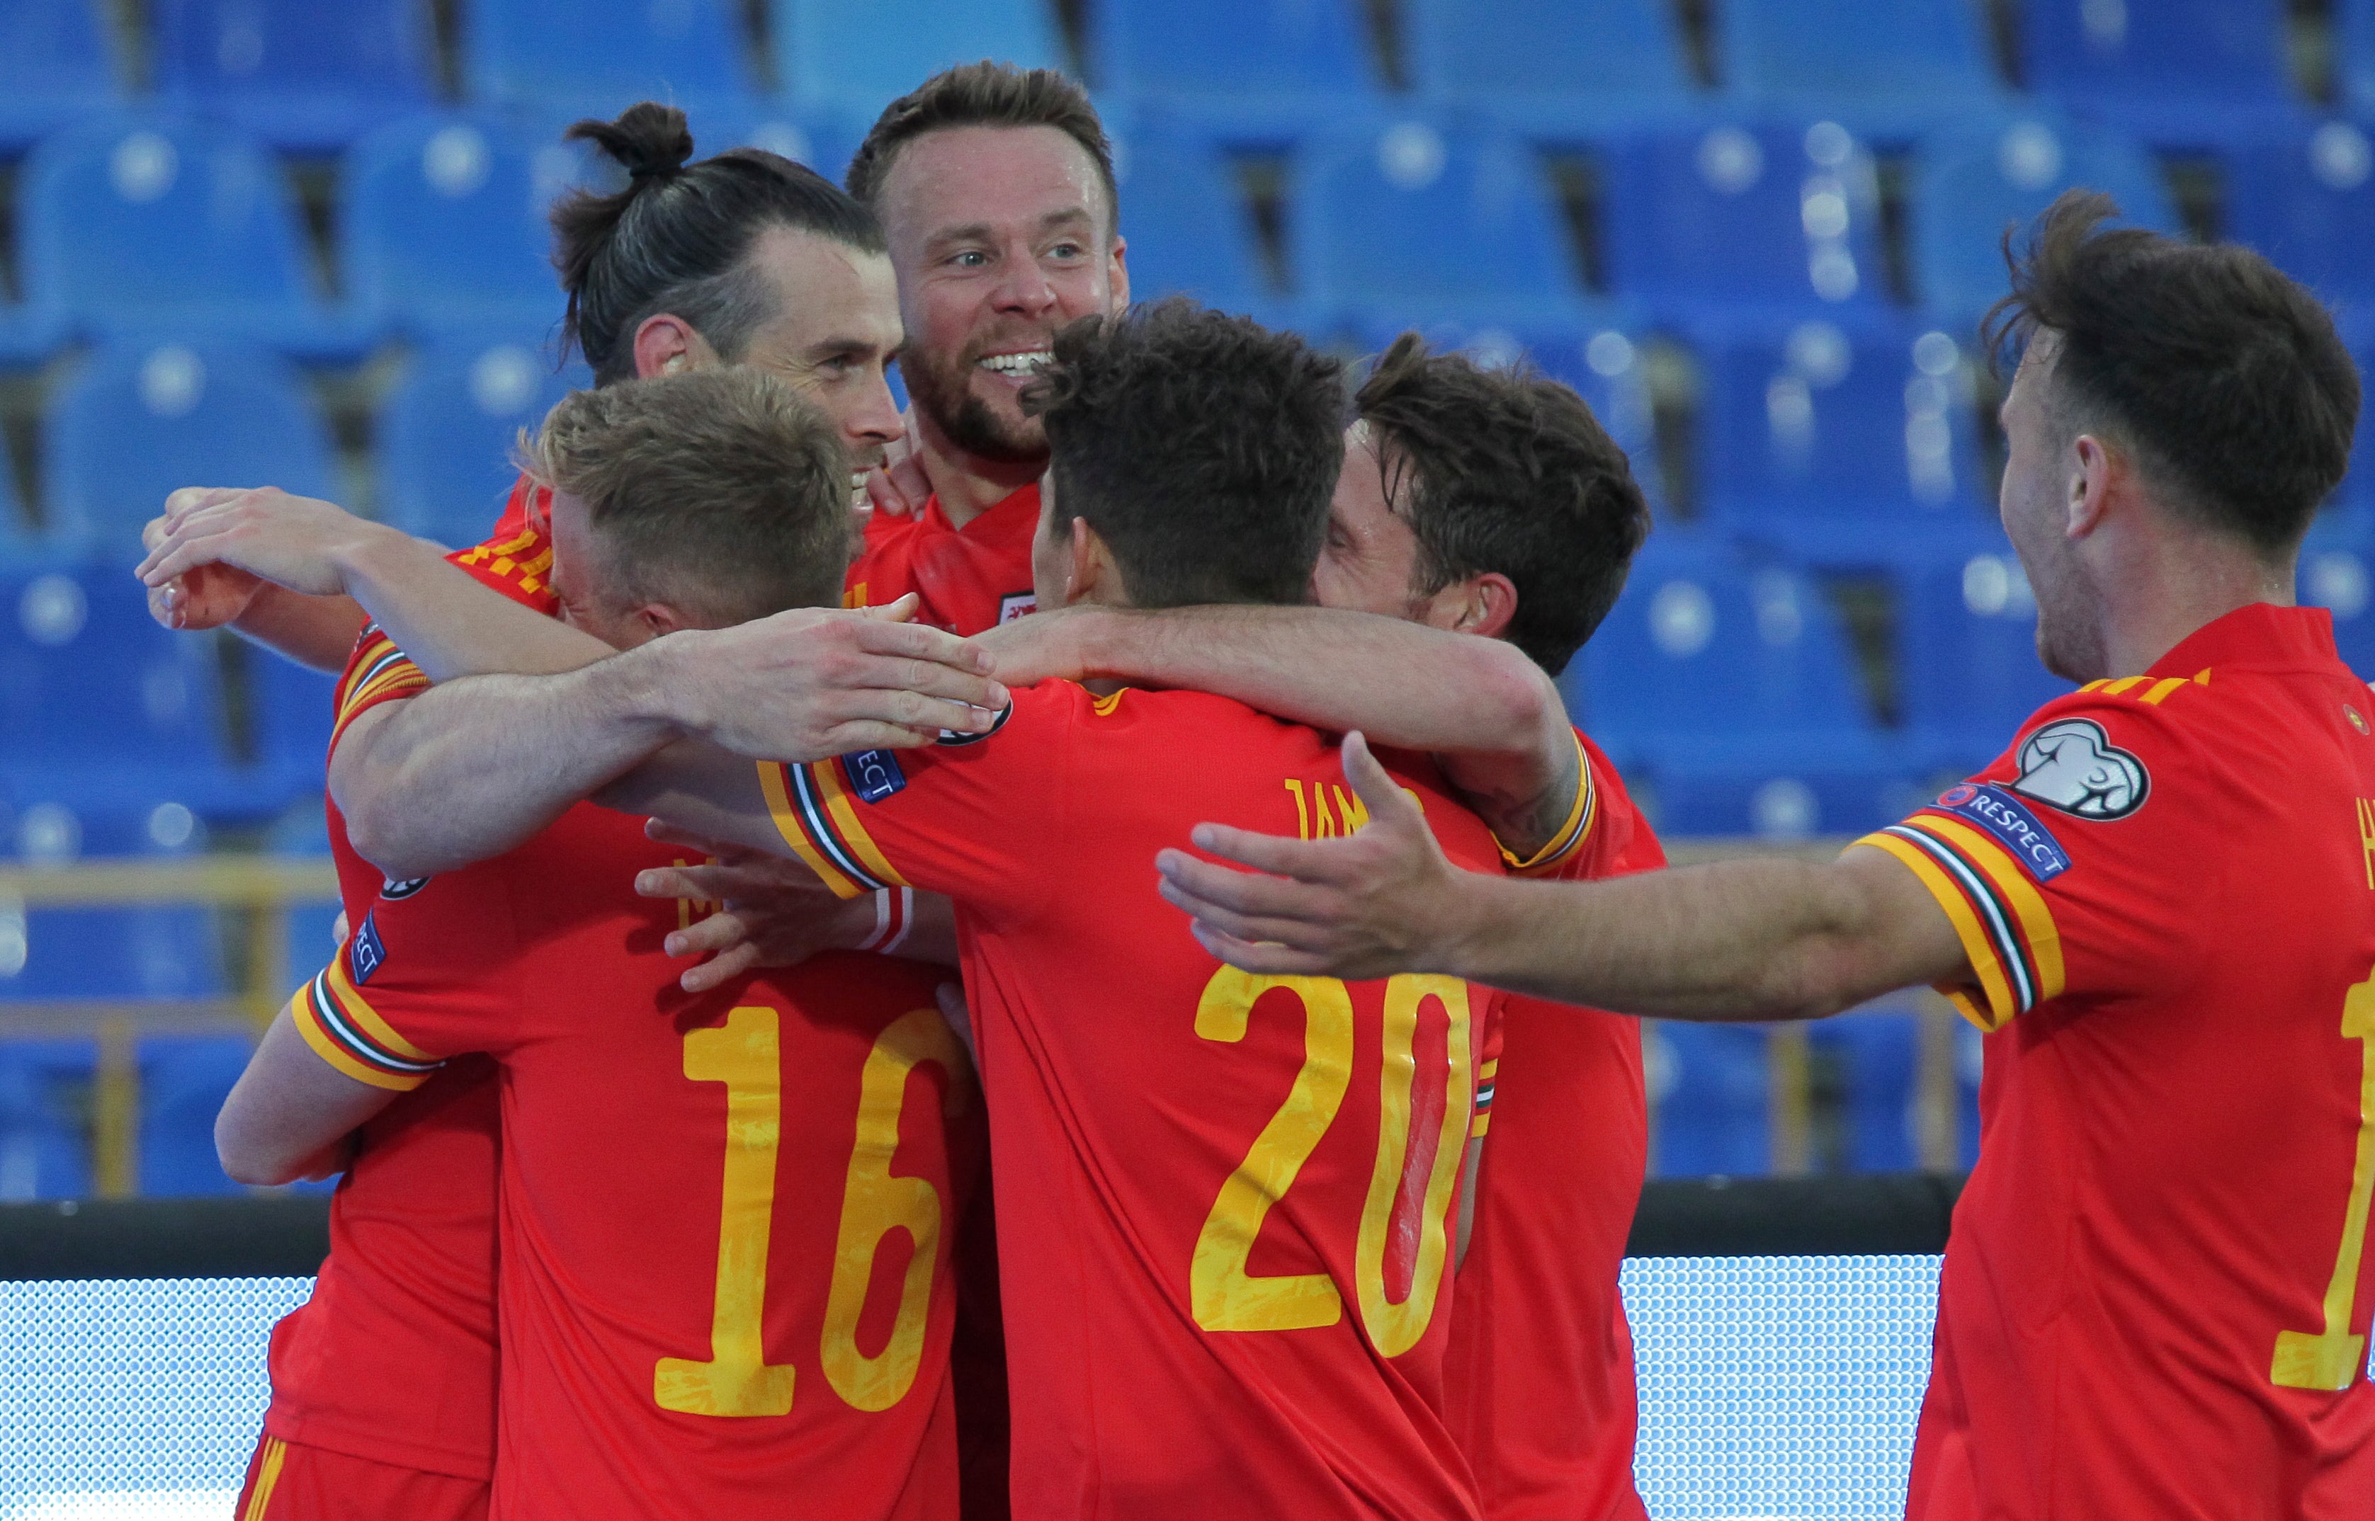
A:
<svg viewBox="0 0 2375 1521">
<path fill-rule="evenodd" d="M 1354 835 L 1285 840 L 1199 823 L 1190 835 L 1197 849 L 1254 871 L 1185 849 L 1154 857 L 1161 895 L 1188 911 L 1206 952 L 1249 973 L 1361 980 L 1449 970 L 1465 873 L 1358 733 L 1344 736 L 1344 778 L 1368 807 L 1368 826 Z"/>
</svg>

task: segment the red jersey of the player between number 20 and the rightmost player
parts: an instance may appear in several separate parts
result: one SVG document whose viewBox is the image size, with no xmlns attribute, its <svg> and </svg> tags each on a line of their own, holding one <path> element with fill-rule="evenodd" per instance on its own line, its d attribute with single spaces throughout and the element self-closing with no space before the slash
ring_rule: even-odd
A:
<svg viewBox="0 0 2375 1521">
<path fill-rule="evenodd" d="M 1575 816 L 1508 868 L 1596 880 L 1665 866 L 1617 769 L 1575 738 Z M 1487 1077 L 1492 1144 L 1451 1307 L 1451 1431 L 1492 1521 L 1636 1521 L 1641 1412 L 1617 1269 L 1648 1170 L 1641 1020 L 1510 994 Z"/>
</svg>

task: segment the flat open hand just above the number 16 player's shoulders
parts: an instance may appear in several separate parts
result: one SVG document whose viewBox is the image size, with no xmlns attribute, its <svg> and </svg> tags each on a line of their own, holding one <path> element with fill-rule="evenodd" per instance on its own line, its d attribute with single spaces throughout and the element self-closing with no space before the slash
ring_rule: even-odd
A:
<svg viewBox="0 0 2375 1521">
<path fill-rule="evenodd" d="M 943 728 L 983 733 L 1007 707 L 990 655 L 888 607 L 796 607 L 732 629 L 658 638 L 646 660 L 667 717 L 753 759 L 815 762 L 855 750 L 914 750 Z M 634 660 L 641 650 L 622 655 Z"/>
</svg>

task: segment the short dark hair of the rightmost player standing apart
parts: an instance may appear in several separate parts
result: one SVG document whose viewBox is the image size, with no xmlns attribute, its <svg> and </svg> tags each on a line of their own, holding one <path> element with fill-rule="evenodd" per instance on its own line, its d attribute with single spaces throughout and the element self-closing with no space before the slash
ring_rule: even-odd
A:
<svg viewBox="0 0 2375 1521">
<path fill-rule="evenodd" d="M 2335 318 L 2252 249 L 2109 228 L 2118 204 L 2066 190 L 2024 247 L 1988 354 L 2054 335 L 2047 406 L 2135 456 L 2159 496 L 2263 558 L 2299 546 L 2342 482 L 2358 370 Z"/>
</svg>

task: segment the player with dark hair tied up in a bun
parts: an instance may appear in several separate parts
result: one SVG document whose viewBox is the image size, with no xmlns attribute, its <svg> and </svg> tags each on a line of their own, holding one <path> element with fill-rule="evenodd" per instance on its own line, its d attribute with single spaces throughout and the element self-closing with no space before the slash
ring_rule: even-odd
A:
<svg viewBox="0 0 2375 1521">
<path fill-rule="evenodd" d="M 572 332 L 598 370 L 618 377 L 627 332 L 646 349 L 639 363 L 651 373 L 682 370 L 689 356 L 710 363 L 724 349 L 758 368 L 788 373 L 826 406 L 846 446 L 879 448 L 884 429 L 895 434 L 884 365 L 898 344 L 898 313 L 879 233 L 862 206 L 772 154 L 727 154 L 684 166 L 689 138 L 682 114 L 672 109 L 636 107 L 618 123 L 584 123 L 580 133 L 639 171 L 625 195 L 577 197 L 560 206 Z M 629 206 L 641 211 L 636 225 L 622 233 Z M 741 263 L 729 256 L 717 271 L 686 266 L 686 249 L 703 240 L 727 247 L 741 240 L 748 252 Z M 803 289 L 812 299 L 793 301 Z M 753 292 L 774 292 L 781 306 L 772 316 L 765 301 L 753 308 Z M 679 311 L 696 313 L 701 325 Z M 622 327 L 627 318 L 632 323 Z M 287 517 L 309 505 L 280 494 L 183 498 L 180 517 L 207 508 L 202 522 Z M 532 520 L 456 555 L 456 562 L 534 615 L 551 615 L 542 496 L 522 482 L 513 491 L 513 513 L 530 501 L 537 508 Z M 321 508 L 316 517 L 344 529 L 363 527 L 325 503 L 311 505 Z M 228 522 L 223 532 L 235 536 Z M 408 541 L 406 548 L 425 553 Z M 254 577 L 233 574 L 228 562 L 207 572 L 216 574 L 216 588 L 228 584 L 238 591 L 245 581 L 240 603 L 280 619 L 278 626 L 306 626 L 309 619 L 302 612 L 287 619 L 273 607 L 330 600 L 271 584 L 264 584 L 266 593 L 254 593 Z M 470 584 L 458 572 L 446 574 Z M 337 605 L 349 610 L 342 617 L 354 617 L 352 603 L 337 598 Z M 850 636 L 881 636 L 874 629 L 803 634 L 826 634 L 843 645 Z M 902 648 L 919 636 L 924 631 L 888 634 Z M 332 764 L 366 766 L 375 757 L 373 745 L 387 738 L 399 743 L 397 755 L 406 755 L 404 726 L 380 726 L 428 688 L 428 676 L 382 629 L 361 641 L 347 629 L 342 638 L 354 648 L 337 695 Z M 834 655 L 834 645 L 817 645 L 812 655 Z M 468 766 L 473 757 L 458 755 L 458 764 Z M 347 790 L 349 800 L 363 797 L 366 809 L 368 795 L 368 776 Z M 335 807 L 330 838 L 349 923 L 361 923 L 382 880 L 404 878 L 382 878 L 352 849 Z M 660 864 L 667 866 L 667 859 Z M 838 942 L 855 944 L 874 930 L 864 906 L 857 906 L 855 921 L 864 923 L 836 930 Z M 674 935 L 698 930 L 679 925 Z M 332 1201 L 332 1250 L 316 1293 L 273 1336 L 273 1405 L 249 1464 L 249 1500 L 259 1507 L 268 1502 L 273 1516 L 484 1514 L 496 1379 L 494 1129 L 489 1068 L 456 1061 L 361 1134 Z"/>
</svg>

